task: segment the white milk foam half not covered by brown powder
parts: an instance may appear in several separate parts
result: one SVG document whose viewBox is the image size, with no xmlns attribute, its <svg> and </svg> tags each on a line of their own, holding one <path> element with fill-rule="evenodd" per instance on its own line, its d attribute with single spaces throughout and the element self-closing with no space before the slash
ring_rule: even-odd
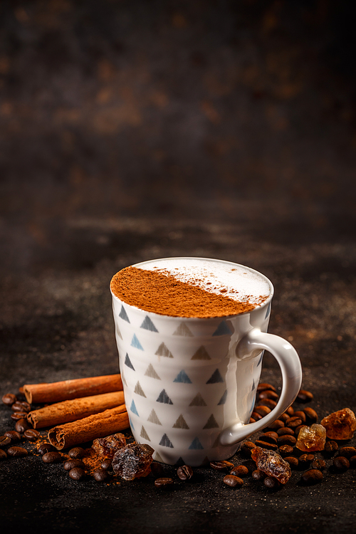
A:
<svg viewBox="0 0 356 534">
<path fill-rule="evenodd" d="M 271 294 L 267 278 L 235 263 L 204 258 L 164 258 L 135 265 L 147 271 L 169 273 L 177 280 L 233 300 L 261 303 Z"/>
</svg>

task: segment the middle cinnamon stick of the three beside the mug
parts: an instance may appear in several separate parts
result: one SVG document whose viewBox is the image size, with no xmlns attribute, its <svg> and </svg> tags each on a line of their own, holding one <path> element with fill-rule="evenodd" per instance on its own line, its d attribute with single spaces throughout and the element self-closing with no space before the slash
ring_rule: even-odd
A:
<svg viewBox="0 0 356 534">
<path fill-rule="evenodd" d="M 69 423 L 83 419 L 89 415 L 104 412 L 106 409 L 115 408 L 124 404 L 124 392 L 103 393 L 91 395 L 80 399 L 56 402 L 38 410 L 33 410 L 27 415 L 27 420 L 33 428 L 41 429 L 44 426 Z"/>
</svg>

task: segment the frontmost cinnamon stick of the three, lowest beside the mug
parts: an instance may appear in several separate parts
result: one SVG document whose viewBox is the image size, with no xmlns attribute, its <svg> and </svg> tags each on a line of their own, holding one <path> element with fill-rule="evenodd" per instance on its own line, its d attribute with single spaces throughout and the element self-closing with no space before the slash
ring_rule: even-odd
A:
<svg viewBox="0 0 356 534">
<path fill-rule="evenodd" d="M 130 426 L 125 404 L 90 415 L 79 421 L 55 426 L 48 431 L 48 440 L 58 451 L 96 438 L 115 434 Z"/>
</svg>

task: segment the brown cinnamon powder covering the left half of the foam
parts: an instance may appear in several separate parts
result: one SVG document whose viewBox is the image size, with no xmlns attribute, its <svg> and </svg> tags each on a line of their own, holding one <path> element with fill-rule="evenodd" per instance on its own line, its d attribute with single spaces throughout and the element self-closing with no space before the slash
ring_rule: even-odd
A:
<svg viewBox="0 0 356 534">
<path fill-rule="evenodd" d="M 268 297 L 239 301 L 181 282 L 168 271 L 126 267 L 112 277 L 112 293 L 142 310 L 172 317 L 224 317 L 253 310 Z"/>
</svg>

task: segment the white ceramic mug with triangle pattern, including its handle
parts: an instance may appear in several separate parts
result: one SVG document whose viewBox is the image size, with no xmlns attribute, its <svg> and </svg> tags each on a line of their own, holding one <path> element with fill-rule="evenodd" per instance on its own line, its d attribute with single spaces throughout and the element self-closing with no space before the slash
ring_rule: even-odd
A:
<svg viewBox="0 0 356 534">
<path fill-rule="evenodd" d="M 236 267 L 221 260 L 204 261 Z M 262 305 L 239 315 L 170 317 L 128 305 L 112 293 L 132 434 L 137 443 L 155 449 L 156 461 L 201 466 L 228 459 L 241 440 L 278 419 L 299 392 L 302 372 L 297 352 L 282 337 L 266 333 L 272 283 L 246 269 L 263 277 L 270 293 Z M 264 350 L 281 367 L 283 387 L 277 406 L 250 424 Z"/>
</svg>

